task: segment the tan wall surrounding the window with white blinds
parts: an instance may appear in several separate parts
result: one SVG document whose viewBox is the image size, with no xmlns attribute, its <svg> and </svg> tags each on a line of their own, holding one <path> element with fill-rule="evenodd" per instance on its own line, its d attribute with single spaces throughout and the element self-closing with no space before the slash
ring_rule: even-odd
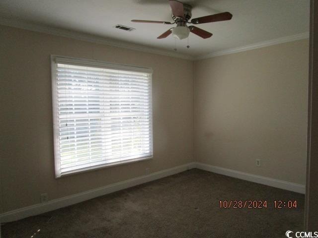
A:
<svg viewBox="0 0 318 238">
<path fill-rule="evenodd" d="M 55 179 L 50 55 L 152 67 L 154 158 Z M 0 26 L 0 212 L 193 161 L 193 62 Z"/>
</svg>

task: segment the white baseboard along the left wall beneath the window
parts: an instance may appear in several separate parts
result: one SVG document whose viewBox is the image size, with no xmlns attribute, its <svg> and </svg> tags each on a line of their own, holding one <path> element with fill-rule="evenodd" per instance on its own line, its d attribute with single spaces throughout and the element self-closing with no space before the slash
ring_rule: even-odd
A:
<svg viewBox="0 0 318 238">
<path fill-rule="evenodd" d="M 80 192 L 74 195 L 51 200 L 46 203 L 35 204 L 32 206 L 24 207 L 21 209 L 9 211 L 0 214 L 0 222 L 11 222 L 19 219 L 23 219 L 30 216 L 39 215 L 45 212 L 53 211 L 55 209 L 70 206 L 94 197 L 102 196 L 111 192 L 119 191 L 128 187 L 136 186 L 145 182 L 161 179 L 170 175 L 178 174 L 180 172 L 195 168 L 196 163 L 189 163 L 177 167 L 173 167 L 167 170 L 162 170 L 150 175 L 137 177 L 134 179 L 128 179 L 120 182 L 116 182 L 107 186 L 91 189 L 85 192 Z"/>
</svg>

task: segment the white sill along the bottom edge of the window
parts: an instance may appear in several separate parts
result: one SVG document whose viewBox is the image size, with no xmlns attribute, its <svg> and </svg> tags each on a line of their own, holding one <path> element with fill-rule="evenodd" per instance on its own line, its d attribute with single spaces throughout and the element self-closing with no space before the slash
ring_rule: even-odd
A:
<svg viewBox="0 0 318 238">
<path fill-rule="evenodd" d="M 55 178 L 56 179 L 60 179 L 60 178 L 65 177 L 65 176 L 70 176 L 70 175 L 75 175 L 75 174 L 79 174 L 79 173 L 89 172 L 89 171 L 98 170 L 98 169 L 102 169 L 102 168 L 106 168 L 106 167 L 113 167 L 113 166 L 130 164 L 130 163 L 139 162 L 139 161 L 150 160 L 152 158 L 153 158 L 153 156 L 147 156 L 147 157 L 141 157 L 141 158 L 135 158 L 135 159 L 129 159 L 129 160 L 110 162 L 110 163 L 101 164 L 101 165 L 95 165 L 95 166 L 91 166 L 91 167 L 85 167 L 85 168 L 78 169 L 78 170 L 72 170 L 72 171 L 64 172 L 59 177 L 56 176 Z"/>
</svg>

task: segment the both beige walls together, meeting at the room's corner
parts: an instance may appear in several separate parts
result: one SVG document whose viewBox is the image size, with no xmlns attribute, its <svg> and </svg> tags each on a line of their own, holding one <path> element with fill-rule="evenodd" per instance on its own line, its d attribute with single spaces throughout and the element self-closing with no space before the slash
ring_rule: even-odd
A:
<svg viewBox="0 0 318 238">
<path fill-rule="evenodd" d="M 55 179 L 51 54 L 154 69 L 154 159 Z M 193 63 L 0 26 L 0 80 L 0 213 L 192 161 L 305 184 L 308 40 Z"/>
</svg>

